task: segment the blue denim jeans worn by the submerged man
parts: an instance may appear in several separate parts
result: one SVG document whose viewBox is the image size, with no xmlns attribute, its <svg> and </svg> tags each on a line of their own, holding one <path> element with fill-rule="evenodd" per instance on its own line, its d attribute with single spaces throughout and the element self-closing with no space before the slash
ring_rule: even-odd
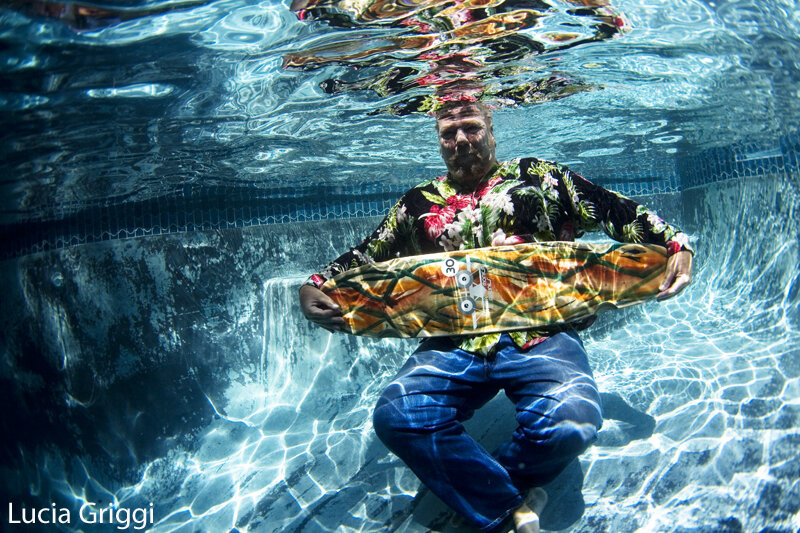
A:
<svg viewBox="0 0 800 533">
<path fill-rule="evenodd" d="M 461 422 L 505 389 L 519 426 L 494 455 Z M 423 341 L 386 388 L 375 432 L 439 498 L 484 531 L 553 480 L 597 438 L 600 395 L 583 343 L 559 333 L 521 350 L 508 335 L 492 357 L 449 339 Z"/>
</svg>

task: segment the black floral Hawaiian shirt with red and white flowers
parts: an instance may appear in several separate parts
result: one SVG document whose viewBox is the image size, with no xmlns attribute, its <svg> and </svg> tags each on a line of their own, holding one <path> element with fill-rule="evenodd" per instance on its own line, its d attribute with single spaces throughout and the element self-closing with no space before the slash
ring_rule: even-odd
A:
<svg viewBox="0 0 800 533">
<path fill-rule="evenodd" d="M 339 272 L 394 257 L 572 241 L 599 229 L 617 241 L 659 244 L 670 255 L 692 251 L 685 233 L 646 207 L 565 166 L 526 158 L 497 165 L 469 188 L 447 176 L 417 185 L 400 198 L 372 235 L 306 283 L 319 287 Z M 518 346 L 529 348 L 555 331 L 512 331 L 509 335 Z M 454 341 L 463 350 L 488 355 L 499 338 L 494 333 L 454 337 Z"/>
</svg>

